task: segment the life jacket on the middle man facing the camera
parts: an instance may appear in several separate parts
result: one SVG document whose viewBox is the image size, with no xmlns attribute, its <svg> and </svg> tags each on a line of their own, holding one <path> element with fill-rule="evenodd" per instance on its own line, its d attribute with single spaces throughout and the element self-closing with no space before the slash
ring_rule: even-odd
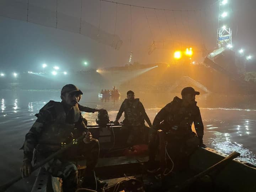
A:
<svg viewBox="0 0 256 192">
<path fill-rule="evenodd" d="M 145 123 L 138 107 L 139 103 L 139 98 L 135 98 L 132 103 L 128 99 L 124 100 L 124 124 L 140 126 Z"/>
</svg>

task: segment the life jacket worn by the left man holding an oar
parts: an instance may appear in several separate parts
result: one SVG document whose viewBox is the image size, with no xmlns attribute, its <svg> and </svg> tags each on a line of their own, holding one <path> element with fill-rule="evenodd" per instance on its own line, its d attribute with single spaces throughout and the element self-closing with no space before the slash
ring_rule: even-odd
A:
<svg viewBox="0 0 256 192">
<path fill-rule="evenodd" d="M 55 152 L 59 150 L 68 138 L 72 137 L 75 131 L 75 123 L 80 119 L 78 105 L 70 110 L 72 114 L 72 123 L 66 123 L 66 113 L 60 102 L 52 102 L 56 112 L 56 119 L 53 122 L 46 122 L 42 133 L 38 138 L 36 149 L 42 153 Z M 42 108 L 41 110 L 44 110 Z M 40 111 L 41 111 L 40 110 Z"/>
</svg>

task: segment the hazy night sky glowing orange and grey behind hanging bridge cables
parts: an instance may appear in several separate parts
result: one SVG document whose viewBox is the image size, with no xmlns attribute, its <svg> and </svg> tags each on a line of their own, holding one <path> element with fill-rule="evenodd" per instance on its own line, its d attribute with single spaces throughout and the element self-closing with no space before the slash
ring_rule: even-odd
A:
<svg viewBox="0 0 256 192">
<path fill-rule="evenodd" d="M 214 50 L 217 38 L 219 2 L 216 3 L 216 1 L 116 0 L 116 2 L 159 9 L 197 10 L 165 11 L 168 26 L 164 11 L 156 10 L 158 23 L 155 10 L 145 9 L 152 36 L 143 8 L 132 7 L 132 40 L 130 40 L 130 6 L 118 5 L 116 34 L 123 41 L 119 50 L 78 33 L 0 17 L 0 71 L 5 73 L 40 71 L 43 63 L 74 71 L 123 66 L 128 63 L 130 51 L 133 51 L 132 63 L 171 62 L 173 51 L 180 49 L 179 46 L 174 46 L 172 49 L 156 49 L 149 55 L 148 48 L 153 39 L 156 42 L 162 39 L 164 42 L 178 41 L 181 42 L 182 47 L 196 44 L 195 49 L 199 49 L 204 44 L 210 52 Z M 0 6 L 3 2 L 5 1 L 0 0 Z M 234 50 L 243 48 L 246 55 L 251 54 L 255 56 L 253 59 L 256 59 L 256 1 L 229 0 L 229 2 Z M 30 0 L 30 3 L 53 11 L 55 9 L 53 0 L 43 1 L 43 3 Z M 58 0 L 58 4 L 60 12 L 80 17 L 80 0 Z M 116 4 L 101 1 L 101 10 L 101 30 L 114 34 Z M 82 20 L 98 27 L 99 18 L 100 1 L 83 0 Z M 200 61 L 202 58 L 202 53 L 194 53 L 195 60 Z M 84 61 L 87 61 L 88 66 L 83 65 Z"/>
</svg>

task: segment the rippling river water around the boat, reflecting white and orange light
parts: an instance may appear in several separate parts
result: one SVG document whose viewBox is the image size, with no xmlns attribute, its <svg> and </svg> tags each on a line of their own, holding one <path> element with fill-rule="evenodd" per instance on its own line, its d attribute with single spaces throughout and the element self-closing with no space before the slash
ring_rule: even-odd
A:
<svg viewBox="0 0 256 192">
<path fill-rule="evenodd" d="M 151 122 L 175 95 L 180 96 L 165 92 L 135 92 Z M 102 100 L 97 92 L 84 91 L 80 104 L 105 108 L 114 120 L 124 98 L 124 91 L 121 91 L 121 98 L 115 100 Z M 60 90 L 0 90 L 1 184 L 19 174 L 23 156 L 19 148 L 36 120 L 34 114 L 49 100 L 60 101 Z M 203 94 L 196 96 L 196 100 L 204 123 L 204 144 L 226 154 L 238 151 L 240 159 L 256 164 L 256 96 Z M 83 116 L 88 124 L 96 124 L 97 113 L 84 113 Z M 29 191 L 34 178 L 33 175 L 22 180 L 8 191 Z"/>
</svg>

